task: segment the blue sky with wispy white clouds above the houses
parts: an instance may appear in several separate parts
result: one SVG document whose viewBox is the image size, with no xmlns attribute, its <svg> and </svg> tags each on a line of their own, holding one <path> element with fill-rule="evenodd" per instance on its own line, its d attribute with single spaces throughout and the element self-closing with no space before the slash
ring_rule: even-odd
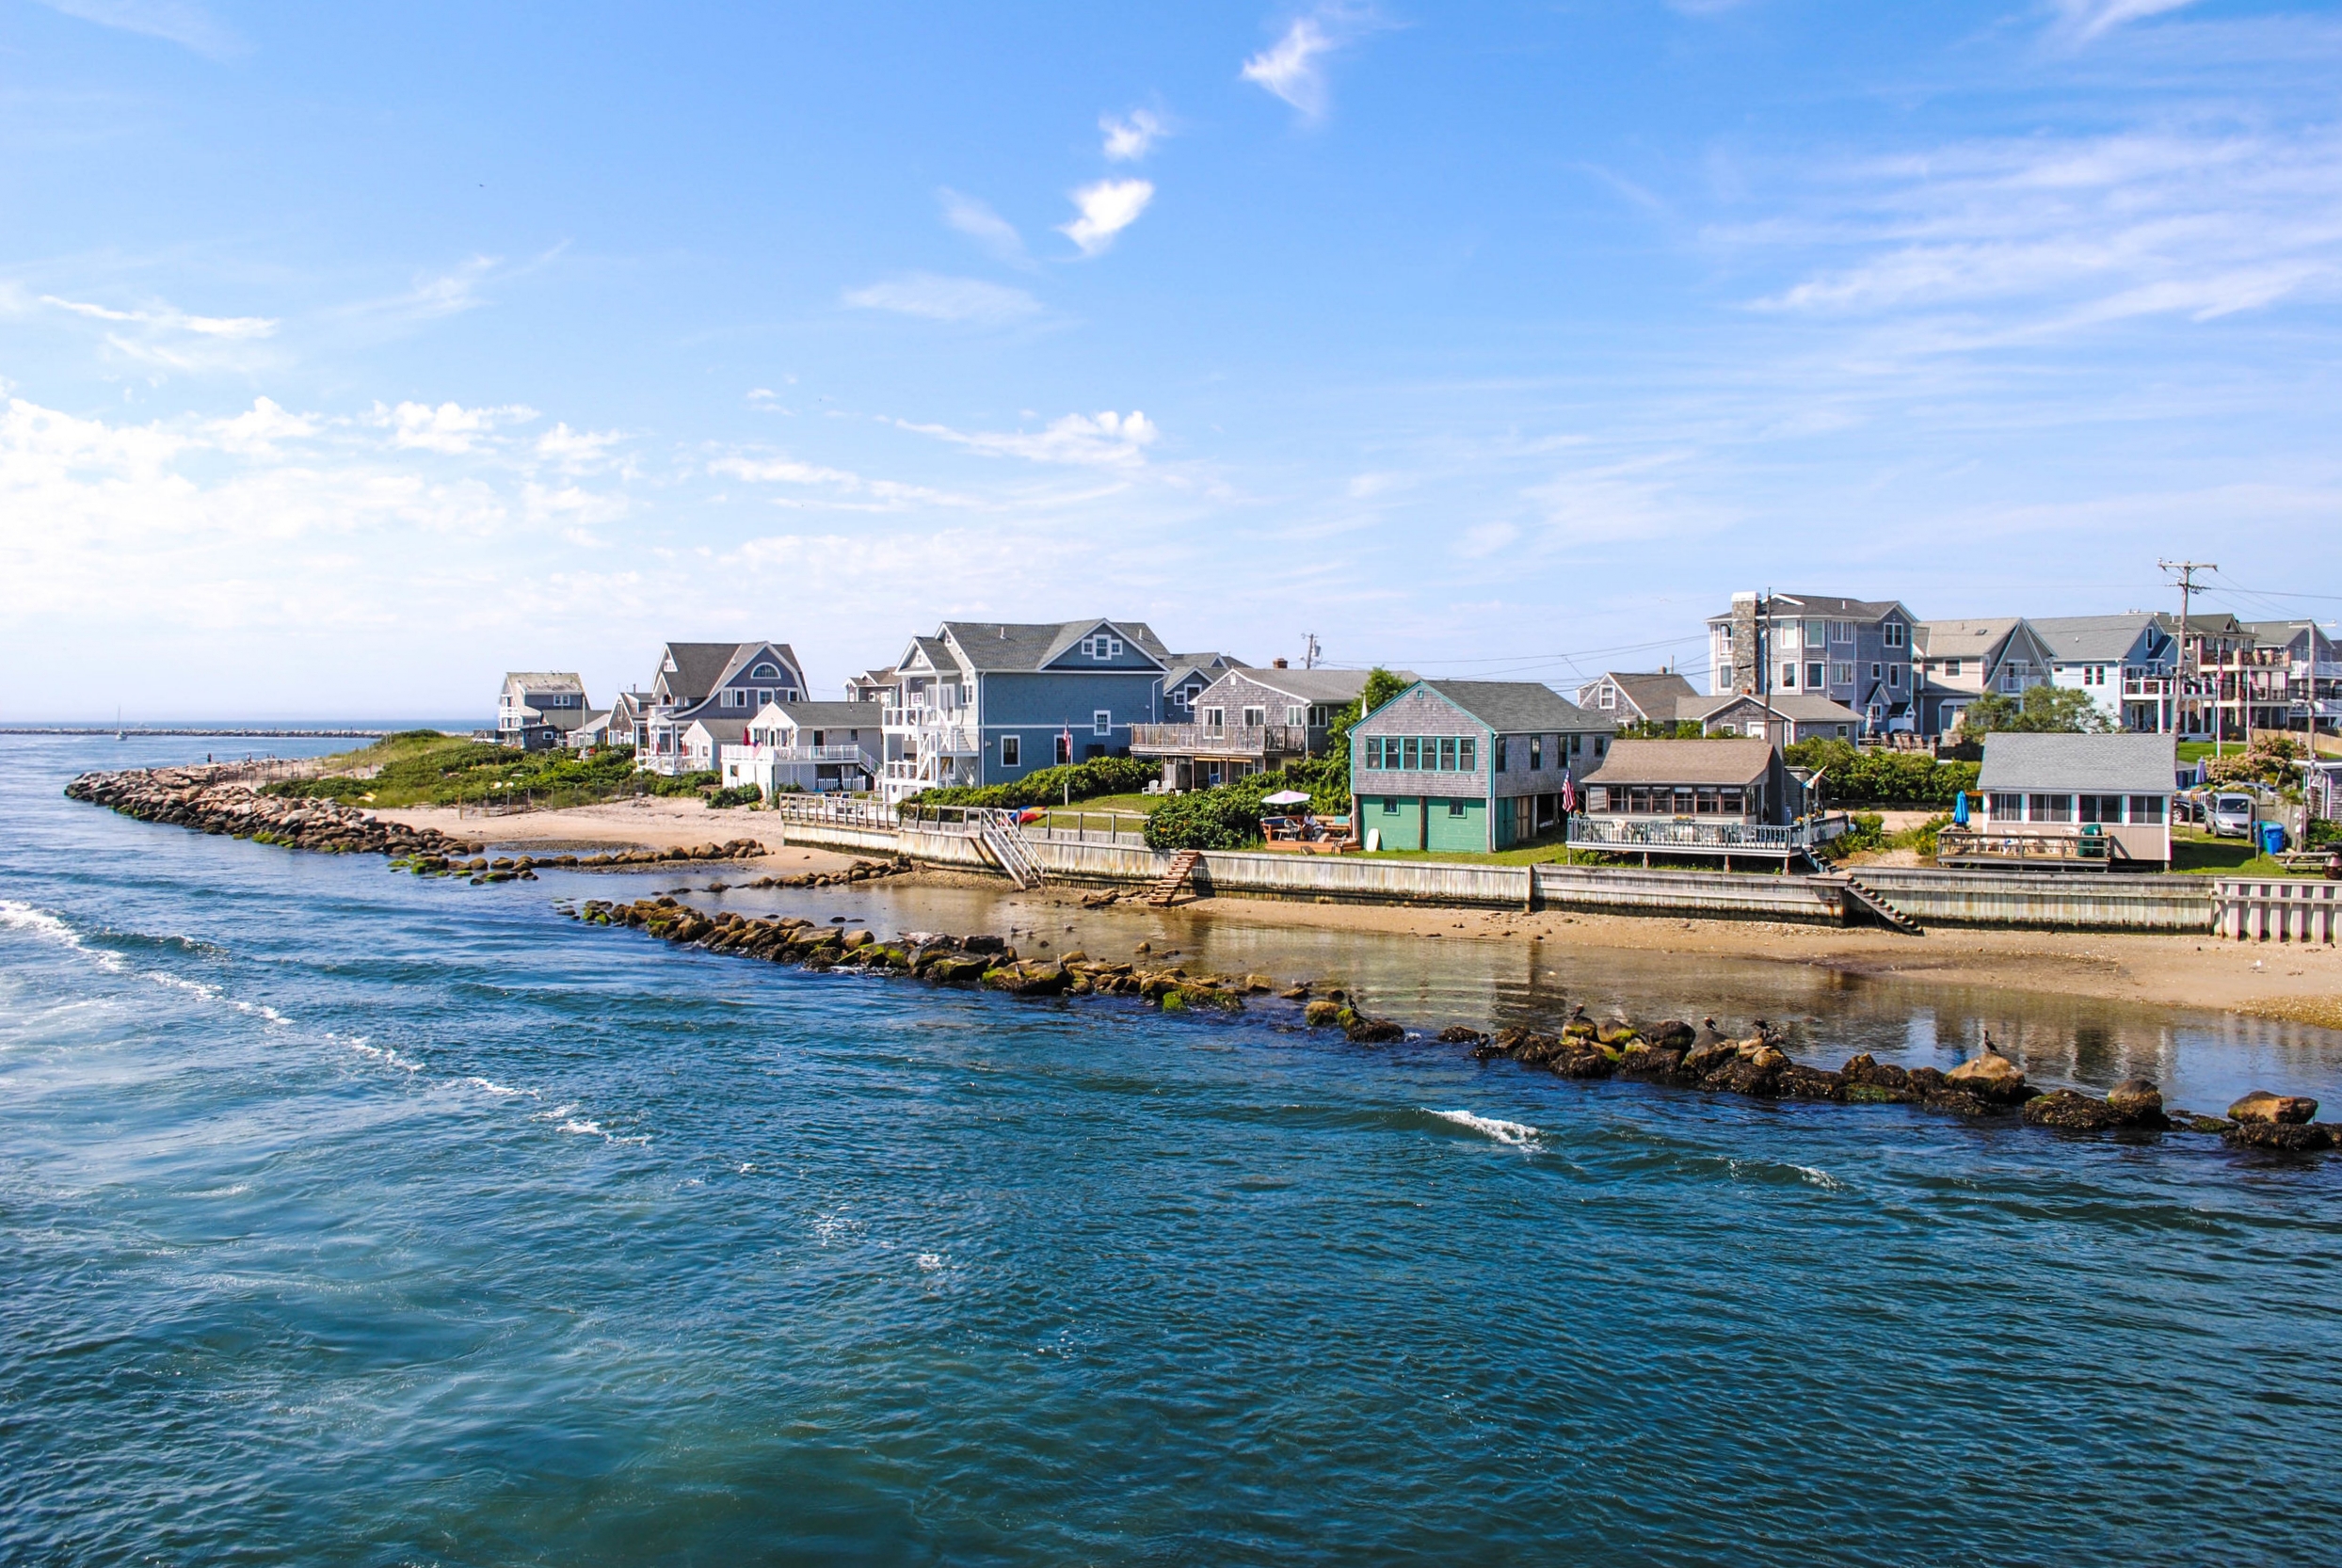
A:
<svg viewBox="0 0 2342 1568">
<path fill-rule="evenodd" d="M 2246 0 L 0 0 L 0 716 L 2328 620 L 2337 82 Z"/>
</svg>

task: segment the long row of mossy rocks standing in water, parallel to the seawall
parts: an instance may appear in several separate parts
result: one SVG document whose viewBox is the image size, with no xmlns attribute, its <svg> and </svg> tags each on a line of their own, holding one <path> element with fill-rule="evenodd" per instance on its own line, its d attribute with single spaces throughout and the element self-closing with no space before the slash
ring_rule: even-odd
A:
<svg viewBox="0 0 2342 1568">
<path fill-rule="evenodd" d="M 1136 997 L 1166 1013 L 1241 1013 L 1248 1006 L 1283 1004 L 1290 1023 L 1307 1030 L 1340 1030 L 1361 1046 L 1422 1039 L 1405 1025 L 1377 1018 L 1365 1002 L 1342 990 L 1314 995 L 1309 981 L 1283 990 L 1269 976 L 1187 974 L 1183 967 L 1105 962 L 1087 953 L 1019 957 L 1002 936 L 946 936 L 911 931 L 881 941 L 867 929 L 817 924 L 796 915 L 747 917 L 707 913 L 674 896 L 611 903 L 588 899 L 562 913 L 597 927 L 630 927 L 667 943 L 705 948 L 801 969 L 845 969 L 869 976 L 923 981 L 927 985 L 986 988 L 1012 997 Z M 1895 1067 L 1869 1053 L 1838 1070 L 1789 1060 L 1780 1037 L 1761 1020 L 1752 1034 L 1733 1039 L 1710 1018 L 1700 1027 L 1684 1020 L 1635 1025 L 1625 1018 L 1593 1020 L 1583 1006 L 1560 1030 L 1511 1027 L 1487 1034 L 1450 1025 L 1431 1034 L 1440 1044 L 1471 1046 L 1480 1060 L 1511 1060 L 1564 1079 L 1639 1079 L 1698 1093 L 1731 1093 L 1756 1100 L 1817 1100 L 1829 1105 L 1911 1105 L 1977 1121 L 2014 1119 L 2023 1126 L 2068 1135 L 2117 1135 L 2152 1140 L 2164 1135 L 2218 1135 L 2246 1149 L 2321 1154 L 2342 1147 L 2342 1123 L 2312 1121 L 2316 1100 L 2255 1091 L 2227 1107 L 2227 1116 L 2166 1109 L 2155 1084 L 2131 1079 L 2103 1100 L 2075 1088 L 2040 1091 L 2023 1070 L 1986 1046 L 1951 1072 Z"/>
</svg>

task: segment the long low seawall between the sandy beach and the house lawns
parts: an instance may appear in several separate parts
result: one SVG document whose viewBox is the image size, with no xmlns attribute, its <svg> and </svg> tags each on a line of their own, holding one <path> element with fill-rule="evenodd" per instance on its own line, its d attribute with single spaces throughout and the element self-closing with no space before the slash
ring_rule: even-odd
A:
<svg viewBox="0 0 2342 1568">
<path fill-rule="evenodd" d="M 958 831 L 787 824 L 789 843 L 909 854 L 925 866 L 995 873 L 984 847 Z M 1033 843 L 1059 882 L 1143 885 L 1169 854 L 1129 845 Z M 1920 924 L 2031 927 L 2045 931 L 2211 931 L 2216 889 L 2178 875 L 2042 875 L 1991 871 L 1862 868 L 1867 887 Z M 1532 894 L 1534 887 L 1534 894 Z M 1600 915 L 1700 920 L 1860 920 L 1836 878 L 1637 871 L 1625 866 L 1466 866 L 1368 861 L 1330 854 L 1208 850 L 1194 871 L 1199 894 L 1309 899 L 1337 903 L 1419 903 L 1440 908 L 1536 908 Z"/>
</svg>

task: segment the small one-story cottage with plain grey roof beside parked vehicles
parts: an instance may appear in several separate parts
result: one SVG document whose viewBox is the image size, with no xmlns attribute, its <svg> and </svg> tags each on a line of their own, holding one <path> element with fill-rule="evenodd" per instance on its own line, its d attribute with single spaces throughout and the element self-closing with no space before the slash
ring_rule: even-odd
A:
<svg viewBox="0 0 2342 1568">
<path fill-rule="evenodd" d="M 1937 833 L 1937 864 L 2112 871 L 2171 864 L 2171 735 L 1984 737 L 1981 810 Z"/>
</svg>

